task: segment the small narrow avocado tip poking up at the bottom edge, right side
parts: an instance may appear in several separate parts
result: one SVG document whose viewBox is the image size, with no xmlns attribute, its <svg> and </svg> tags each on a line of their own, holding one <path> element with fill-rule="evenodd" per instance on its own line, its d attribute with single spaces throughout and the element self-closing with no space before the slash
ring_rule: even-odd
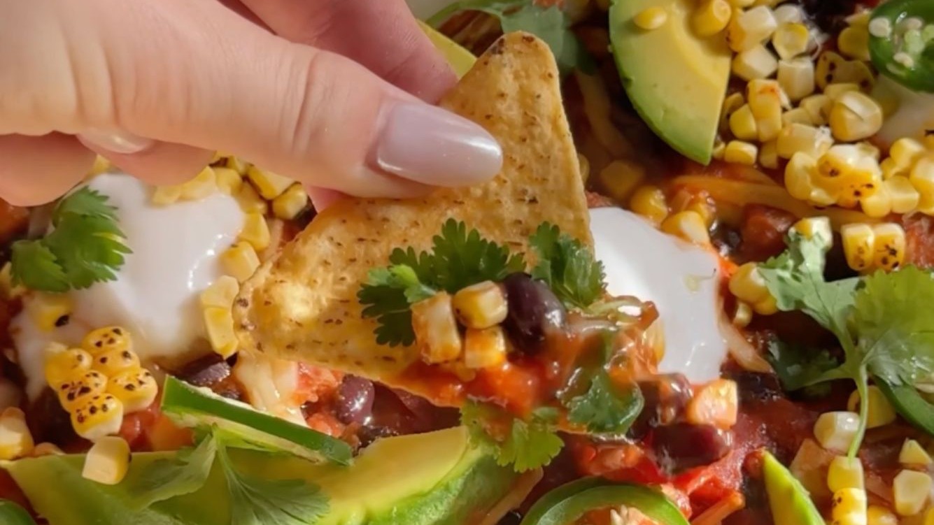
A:
<svg viewBox="0 0 934 525">
<path fill-rule="evenodd" d="M 769 452 L 762 458 L 762 476 L 775 525 L 824 525 L 808 490 Z"/>
</svg>

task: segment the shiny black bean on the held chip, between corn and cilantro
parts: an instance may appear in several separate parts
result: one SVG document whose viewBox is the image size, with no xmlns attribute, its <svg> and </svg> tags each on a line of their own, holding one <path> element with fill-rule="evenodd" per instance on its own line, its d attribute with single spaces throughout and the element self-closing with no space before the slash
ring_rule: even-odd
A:
<svg viewBox="0 0 934 525">
<path fill-rule="evenodd" d="M 513 273 L 502 281 L 509 314 L 502 323 L 519 352 L 542 350 L 545 339 L 563 330 L 567 312 L 548 285 L 526 273 Z"/>
</svg>

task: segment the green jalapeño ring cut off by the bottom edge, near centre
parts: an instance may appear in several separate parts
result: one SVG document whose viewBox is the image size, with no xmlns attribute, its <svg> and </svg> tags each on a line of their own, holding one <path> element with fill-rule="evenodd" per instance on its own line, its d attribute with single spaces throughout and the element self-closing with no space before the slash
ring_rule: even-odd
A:
<svg viewBox="0 0 934 525">
<path fill-rule="evenodd" d="M 545 494 L 520 525 L 569 525 L 587 512 L 626 506 L 661 525 L 688 525 L 686 518 L 658 490 L 586 477 Z"/>
</svg>

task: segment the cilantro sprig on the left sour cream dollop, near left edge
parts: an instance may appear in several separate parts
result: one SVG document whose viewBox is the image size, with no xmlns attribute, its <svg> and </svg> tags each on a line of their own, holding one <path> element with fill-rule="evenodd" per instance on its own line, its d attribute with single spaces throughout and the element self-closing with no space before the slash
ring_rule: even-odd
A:
<svg viewBox="0 0 934 525">
<path fill-rule="evenodd" d="M 54 293 L 88 288 L 115 280 L 124 256 L 133 253 L 123 242 L 117 208 L 89 187 L 60 200 L 51 224 L 44 238 L 13 243 L 13 283 Z"/>
</svg>

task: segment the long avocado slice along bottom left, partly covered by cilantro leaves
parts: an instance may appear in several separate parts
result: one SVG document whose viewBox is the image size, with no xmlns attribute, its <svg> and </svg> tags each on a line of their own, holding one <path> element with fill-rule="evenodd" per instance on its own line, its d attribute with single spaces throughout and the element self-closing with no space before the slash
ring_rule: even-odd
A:
<svg viewBox="0 0 934 525">
<path fill-rule="evenodd" d="M 251 450 L 231 450 L 231 455 L 244 472 L 318 485 L 330 501 L 328 514 L 315 525 L 466 523 L 496 504 L 517 480 L 512 469 L 471 446 L 464 428 L 378 440 L 350 467 Z M 173 456 L 134 454 L 128 476 Z M 50 525 L 230 523 L 230 495 L 217 468 L 201 490 L 137 511 L 127 493 L 131 483 L 110 487 L 86 480 L 81 477 L 83 461 L 80 455 L 45 456 L 4 466 Z"/>
</svg>

